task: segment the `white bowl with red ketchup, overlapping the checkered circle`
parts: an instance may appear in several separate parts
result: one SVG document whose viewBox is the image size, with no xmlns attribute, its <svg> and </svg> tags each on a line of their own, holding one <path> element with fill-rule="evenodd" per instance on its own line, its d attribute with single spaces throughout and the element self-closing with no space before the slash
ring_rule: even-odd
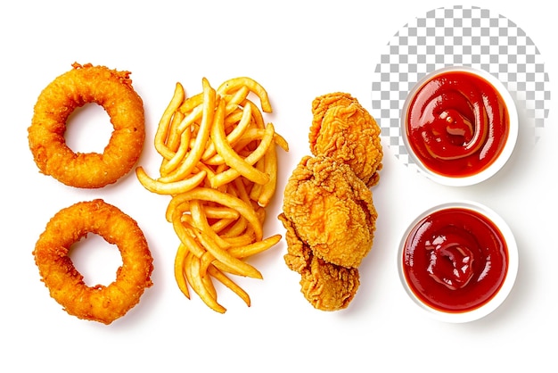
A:
<svg viewBox="0 0 558 373">
<path fill-rule="evenodd" d="M 513 153 L 519 120 L 513 97 L 484 70 L 435 70 L 409 92 L 401 134 L 411 160 L 427 177 L 470 186 L 496 174 Z"/>
</svg>

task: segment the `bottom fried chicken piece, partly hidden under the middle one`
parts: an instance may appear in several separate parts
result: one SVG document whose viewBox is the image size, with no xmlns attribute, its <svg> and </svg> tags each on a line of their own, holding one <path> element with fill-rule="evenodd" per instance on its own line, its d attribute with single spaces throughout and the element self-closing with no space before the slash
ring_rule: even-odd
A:
<svg viewBox="0 0 558 373">
<path fill-rule="evenodd" d="M 288 252 L 284 255 L 289 269 L 300 273 L 301 292 L 314 308 L 322 311 L 345 309 L 357 294 L 358 269 L 345 268 L 317 258 L 312 249 L 297 236 L 290 220 L 279 215 L 287 229 Z"/>
</svg>

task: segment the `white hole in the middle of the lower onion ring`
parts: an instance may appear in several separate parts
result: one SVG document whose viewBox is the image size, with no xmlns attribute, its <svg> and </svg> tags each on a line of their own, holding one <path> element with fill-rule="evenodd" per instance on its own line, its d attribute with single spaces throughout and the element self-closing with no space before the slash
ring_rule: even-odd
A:
<svg viewBox="0 0 558 373">
<path fill-rule="evenodd" d="M 86 286 L 109 286 L 116 280 L 116 272 L 122 265 L 117 245 L 109 244 L 94 233 L 71 245 L 69 256 Z"/>
</svg>

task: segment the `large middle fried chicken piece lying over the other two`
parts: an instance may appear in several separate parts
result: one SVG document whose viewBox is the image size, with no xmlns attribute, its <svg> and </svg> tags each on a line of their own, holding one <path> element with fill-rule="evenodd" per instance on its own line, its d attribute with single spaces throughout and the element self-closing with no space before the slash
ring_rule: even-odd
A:
<svg viewBox="0 0 558 373">
<path fill-rule="evenodd" d="M 333 158 L 302 158 L 285 187 L 283 214 L 323 261 L 357 268 L 372 248 L 377 218 L 372 192 Z"/>
</svg>

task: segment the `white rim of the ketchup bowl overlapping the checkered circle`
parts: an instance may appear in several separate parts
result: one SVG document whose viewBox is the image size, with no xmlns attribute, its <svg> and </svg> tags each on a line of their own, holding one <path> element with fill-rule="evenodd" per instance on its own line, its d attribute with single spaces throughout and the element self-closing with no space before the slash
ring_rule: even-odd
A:
<svg viewBox="0 0 558 373">
<path fill-rule="evenodd" d="M 448 71 L 465 71 L 472 74 L 479 76 L 480 78 L 488 81 L 490 85 L 496 88 L 496 91 L 504 100 L 504 103 L 507 107 L 507 111 L 509 114 L 510 120 L 510 128 L 508 137 L 505 142 L 504 149 L 502 152 L 497 156 L 496 160 L 488 166 L 488 168 L 481 170 L 480 172 L 473 174 L 471 176 L 466 177 L 448 177 L 446 175 L 442 175 L 437 173 L 434 170 L 430 170 L 427 168 L 423 162 L 416 156 L 413 151 L 413 148 L 409 145 L 409 139 L 406 133 L 406 121 L 408 116 L 408 109 L 409 105 L 412 103 L 414 99 L 414 95 L 431 79 L 439 76 L 440 74 L 444 74 Z M 513 148 L 515 147 L 515 143 L 517 141 L 517 136 L 519 132 L 519 119 L 517 114 L 517 108 L 515 103 L 513 102 L 513 97 L 510 95 L 509 91 L 505 88 L 504 84 L 496 77 L 485 70 L 477 70 L 473 69 L 468 66 L 448 66 L 439 70 L 432 71 L 431 73 L 427 74 L 420 79 L 416 85 L 411 89 L 409 95 L 407 95 L 405 104 L 403 105 L 403 109 L 401 111 L 401 136 L 403 137 L 403 142 L 406 146 L 406 150 L 409 153 L 410 159 L 416 164 L 418 169 L 423 172 L 428 178 L 438 182 L 442 185 L 447 185 L 451 187 L 466 187 L 471 186 L 474 184 L 478 184 L 481 181 L 484 181 L 488 178 L 491 178 L 496 174 L 498 170 L 501 170 L 504 167 L 505 162 L 508 161 L 510 156 L 513 153 Z"/>
</svg>

